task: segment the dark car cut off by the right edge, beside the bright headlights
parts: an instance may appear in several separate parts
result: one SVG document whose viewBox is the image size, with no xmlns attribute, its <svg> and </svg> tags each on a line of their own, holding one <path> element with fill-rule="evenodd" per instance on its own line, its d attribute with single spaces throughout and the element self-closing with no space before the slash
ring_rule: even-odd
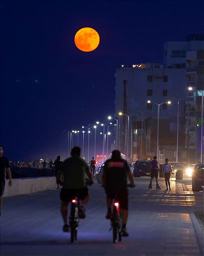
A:
<svg viewBox="0 0 204 256">
<path fill-rule="evenodd" d="M 192 190 L 200 191 L 203 190 L 201 186 L 204 186 L 204 164 L 198 163 L 195 165 L 192 172 Z"/>
</svg>

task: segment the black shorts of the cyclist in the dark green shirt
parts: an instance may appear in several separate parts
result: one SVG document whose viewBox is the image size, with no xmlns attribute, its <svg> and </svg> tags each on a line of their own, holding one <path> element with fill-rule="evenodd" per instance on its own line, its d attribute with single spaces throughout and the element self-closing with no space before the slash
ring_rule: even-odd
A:
<svg viewBox="0 0 204 256">
<path fill-rule="evenodd" d="M 80 200 L 83 200 L 86 196 L 88 196 L 88 188 L 79 188 L 79 189 L 65 189 L 62 188 L 60 193 L 60 199 L 65 202 L 71 202 L 76 196 L 79 197 Z"/>
</svg>

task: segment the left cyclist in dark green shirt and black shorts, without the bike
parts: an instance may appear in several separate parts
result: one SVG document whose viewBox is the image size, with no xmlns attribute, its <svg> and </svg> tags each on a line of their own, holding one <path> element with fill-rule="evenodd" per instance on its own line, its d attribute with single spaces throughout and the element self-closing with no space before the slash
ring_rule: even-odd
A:
<svg viewBox="0 0 204 256">
<path fill-rule="evenodd" d="M 69 227 L 67 224 L 67 206 L 73 198 L 79 196 L 81 205 L 79 207 L 79 217 L 85 218 L 84 205 L 88 203 L 89 194 L 88 188 L 85 183 L 85 175 L 89 177 L 92 182 L 92 176 L 90 174 L 87 163 L 80 158 L 80 148 L 73 147 L 71 150 L 71 157 L 67 158 L 61 165 L 60 171 L 57 175 L 57 182 L 60 183 L 61 176 L 63 175 L 64 182 L 61 190 L 60 199 L 61 214 L 64 221 L 63 231 L 68 232 Z"/>
</svg>

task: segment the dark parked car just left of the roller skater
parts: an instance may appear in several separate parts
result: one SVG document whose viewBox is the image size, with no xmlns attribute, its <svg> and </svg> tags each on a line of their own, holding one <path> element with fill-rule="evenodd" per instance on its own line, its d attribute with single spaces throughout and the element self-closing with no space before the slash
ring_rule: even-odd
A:
<svg viewBox="0 0 204 256">
<path fill-rule="evenodd" d="M 134 177 L 150 177 L 151 161 L 136 161 L 133 170 Z"/>
</svg>

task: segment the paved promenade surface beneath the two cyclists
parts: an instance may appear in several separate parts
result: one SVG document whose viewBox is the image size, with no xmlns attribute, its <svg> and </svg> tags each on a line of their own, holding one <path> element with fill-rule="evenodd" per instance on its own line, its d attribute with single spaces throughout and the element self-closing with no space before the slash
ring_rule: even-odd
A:
<svg viewBox="0 0 204 256">
<path fill-rule="evenodd" d="M 105 219 L 104 190 L 90 189 L 86 218 L 80 220 L 78 241 L 62 232 L 60 190 L 4 198 L 1 222 L 1 255 L 203 255 L 203 232 L 194 215 L 203 210 L 201 192 L 186 190 L 171 180 L 171 191 L 148 190 L 149 178 L 134 178 L 129 189 L 130 236 L 112 244 Z"/>
</svg>

